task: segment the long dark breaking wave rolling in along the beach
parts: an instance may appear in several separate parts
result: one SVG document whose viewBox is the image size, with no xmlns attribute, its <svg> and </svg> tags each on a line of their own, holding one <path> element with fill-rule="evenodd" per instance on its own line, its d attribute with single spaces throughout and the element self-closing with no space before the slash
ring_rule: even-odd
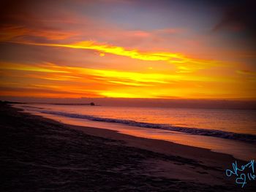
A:
<svg viewBox="0 0 256 192">
<path fill-rule="evenodd" d="M 219 137 L 223 139 L 234 139 L 243 142 L 256 142 L 256 135 L 252 134 L 238 134 L 227 131 L 220 131 L 214 129 L 204 129 L 204 128 L 187 128 L 180 126 L 170 126 L 168 124 L 158 124 L 158 123 L 143 123 L 135 120 L 123 120 L 123 119 L 113 119 L 113 118 L 99 118 L 92 115 L 80 115 L 75 113 L 68 112 L 54 112 L 54 111 L 45 111 L 41 110 L 39 112 L 47 113 L 51 115 L 59 115 L 68 118 L 81 118 L 86 120 L 94 120 L 94 121 L 102 121 L 107 123 L 119 123 L 127 126 L 138 126 L 144 128 L 158 128 L 165 129 L 169 131 L 178 131 L 186 134 L 195 134 L 195 135 L 203 135 L 203 136 L 211 136 L 211 137 Z"/>
</svg>

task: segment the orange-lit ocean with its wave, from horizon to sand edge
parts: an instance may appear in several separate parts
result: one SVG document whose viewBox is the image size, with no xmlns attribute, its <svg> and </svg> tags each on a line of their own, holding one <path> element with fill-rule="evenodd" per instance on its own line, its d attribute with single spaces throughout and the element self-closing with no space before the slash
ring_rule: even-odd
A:
<svg viewBox="0 0 256 192">
<path fill-rule="evenodd" d="M 249 160 L 256 154 L 256 111 L 15 104 L 63 123 L 203 147 Z"/>
</svg>

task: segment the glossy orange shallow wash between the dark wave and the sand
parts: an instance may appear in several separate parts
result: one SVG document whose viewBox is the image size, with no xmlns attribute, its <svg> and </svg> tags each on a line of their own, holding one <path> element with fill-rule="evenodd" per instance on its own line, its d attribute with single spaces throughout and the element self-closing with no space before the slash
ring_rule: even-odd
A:
<svg viewBox="0 0 256 192">
<path fill-rule="evenodd" d="M 211 150 L 216 153 L 223 153 L 227 155 L 233 155 L 234 158 L 250 161 L 256 158 L 255 145 L 249 142 L 241 142 L 233 139 L 222 139 L 219 137 L 202 136 L 195 134 L 184 134 L 178 131 L 168 131 L 157 128 L 145 128 L 140 126 L 128 126 L 120 123 L 107 123 L 102 121 L 86 120 L 83 118 L 70 118 L 66 116 L 53 115 L 50 113 L 42 113 L 34 110 L 26 109 L 26 107 L 20 107 L 14 105 L 18 109 L 29 112 L 32 115 L 39 115 L 43 118 L 56 120 L 60 123 L 65 123 L 69 126 L 91 127 L 97 129 L 107 129 L 110 131 L 117 131 L 120 134 L 130 135 L 133 137 L 140 137 L 154 140 L 164 140 L 167 142 L 175 143 L 178 145 L 185 145 L 191 147 L 199 147 L 207 150 Z M 75 128 L 75 127 L 74 127 Z M 88 131 L 84 128 L 81 131 Z M 99 130 L 100 131 L 100 130 Z M 97 130 L 91 131 L 92 134 L 96 134 Z M 104 131 L 103 131 L 104 132 Z M 105 134 L 99 134 L 105 136 Z M 120 137 L 120 135 L 116 135 Z M 115 139 L 115 137 L 113 137 Z M 135 140 L 137 141 L 137 140 Z M 189 150 L 190 151 L 190 150 Z"/>
</svg>

